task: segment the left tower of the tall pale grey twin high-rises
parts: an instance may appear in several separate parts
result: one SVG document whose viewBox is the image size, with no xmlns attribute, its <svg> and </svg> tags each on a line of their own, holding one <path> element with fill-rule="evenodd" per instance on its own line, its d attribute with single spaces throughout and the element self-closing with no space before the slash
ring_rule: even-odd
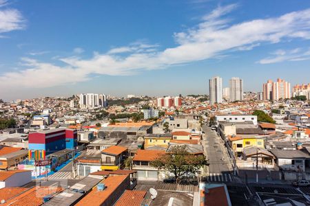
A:
<svg viewBox="0 0 310 206">
<path fill-rule="evenodd" d="M 222 95 L 222 78 L 216 76 L 209 80 L 209 97 L 210 104 L 214 103 L 222 103 L 223 95 Z"/>
</svg>

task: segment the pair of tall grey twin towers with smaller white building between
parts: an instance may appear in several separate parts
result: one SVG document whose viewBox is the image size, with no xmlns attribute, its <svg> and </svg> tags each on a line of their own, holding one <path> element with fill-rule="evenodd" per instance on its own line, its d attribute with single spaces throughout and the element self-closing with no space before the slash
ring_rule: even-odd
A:
<svg viewBox="0 0 310 206">
<path fill-rule="evenodd" d="M 216 76 L 209 79 L 210 104 L 222 103 L 223 98 L 231 102 L 243 100 L 243 81 L 240 78 L 231 78 L 229 88 L 222 88 L 222 78 Z"/>
</svg>

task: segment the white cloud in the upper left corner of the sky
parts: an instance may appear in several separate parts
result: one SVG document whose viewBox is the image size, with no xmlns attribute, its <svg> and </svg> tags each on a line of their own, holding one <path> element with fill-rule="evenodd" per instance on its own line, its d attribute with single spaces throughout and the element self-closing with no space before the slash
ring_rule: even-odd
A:
<svg viewBox="0 0 310 206">
<path fill-rule="evenodd" d="M 0 33 L 22 30 L 24 27 L 23 16 L 18 10 L 0 10 Z"/>
</svg>

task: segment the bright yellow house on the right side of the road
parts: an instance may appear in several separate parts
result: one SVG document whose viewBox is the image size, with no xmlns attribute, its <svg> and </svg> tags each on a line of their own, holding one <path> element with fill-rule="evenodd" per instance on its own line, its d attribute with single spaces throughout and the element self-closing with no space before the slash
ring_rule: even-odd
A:
<svg viewBox="0 0 310 206">
<path fill-rule="evenodd" d="M 236 157 L 242 157 L 243 149 L 249 146 L 265 148 L 264 139 L 261 137 L 228 137 L 228 144 Z"/>
</svg>

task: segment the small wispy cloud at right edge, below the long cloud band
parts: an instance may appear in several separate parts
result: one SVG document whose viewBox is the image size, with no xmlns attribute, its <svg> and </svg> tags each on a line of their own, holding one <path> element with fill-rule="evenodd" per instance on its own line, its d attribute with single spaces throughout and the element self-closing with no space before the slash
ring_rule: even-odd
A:
<svg viewBox="0 0 310 206">
<path fill-rule="evenodd" d="M 263 58 L 258 62 L 262 65 L 273 64 L 278 62 L 285 61 L 301 61 L 310 59 L 310 49 L 307 51 L 302 51 L 301 48 L 291 49 L 291 50 L 277 50 L 276 52 L 271 53 L 271 56 Z"/>
</svg>

